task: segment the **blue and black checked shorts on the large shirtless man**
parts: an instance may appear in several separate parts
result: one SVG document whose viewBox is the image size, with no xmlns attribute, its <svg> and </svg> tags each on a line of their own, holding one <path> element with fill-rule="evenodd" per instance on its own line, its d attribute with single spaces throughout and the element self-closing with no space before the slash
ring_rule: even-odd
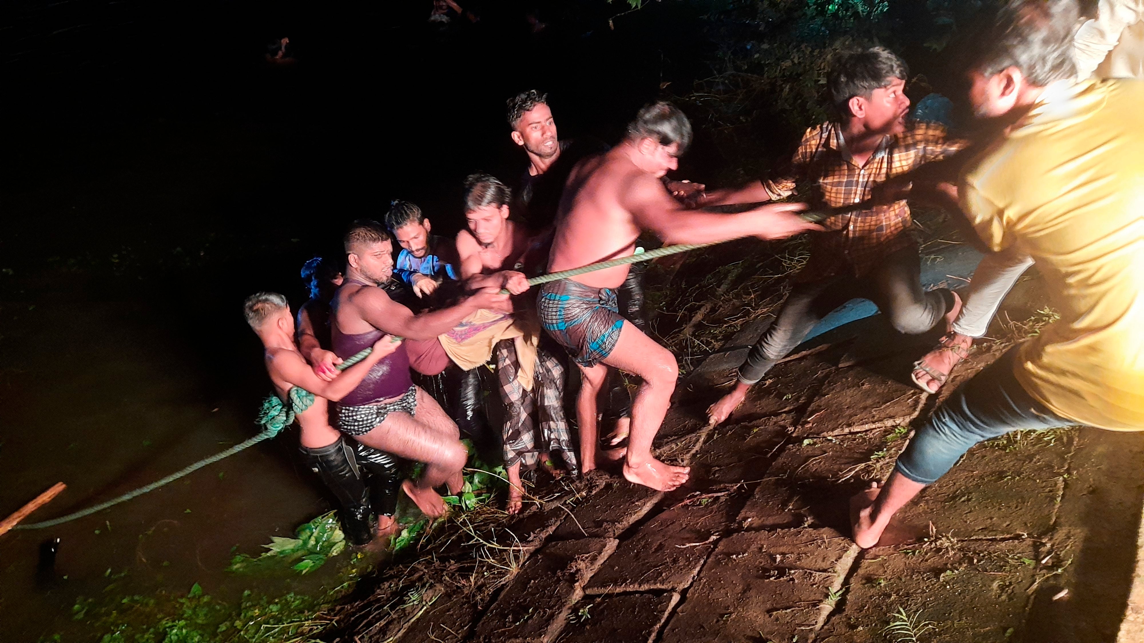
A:
<svg viewBox="0 0 1144 643">
<path fill-rule="evenodd" d="M 623 328 L 615 291 L 571 279 L 545 284 L 537 309 L 548 334 L 567 348 L 581 366 L 595 366 L 611 355 Z"/>
</svg>

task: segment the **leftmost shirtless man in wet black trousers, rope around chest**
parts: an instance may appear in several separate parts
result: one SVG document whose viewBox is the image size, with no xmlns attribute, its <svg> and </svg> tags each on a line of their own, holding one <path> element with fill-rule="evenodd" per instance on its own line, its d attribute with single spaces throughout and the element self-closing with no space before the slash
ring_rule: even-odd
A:
<svg viewBox="0 0 1144 643">
<path fill-rule="evenodd" d="M 374 342 L 370 357 L 325 380 L 313 373 L 294 344 L 294 318 L 289 313 L 286 297 L 278 293 L 257 293 L 246 300 L 244 311 L 246 322 L 267 349 L 267 372 L 278 397 L 292 405 L 289 391 L 294 387 L 313 394 L 313 403 L 309 407 L 295 408 L 297 423 L 302 428 L 302 453 L 307 457 L 307 463 L 341 502 L 345 537 L 353 545 L 365 545 L 373 537 L 370 529 L 371 505 L 365 485 L 353 470 L 356 462 L 349 461 L 352 454 L 347 451 L 341 434 L 329 426 L 326 400 L 337 402 L 353 390 L 374 365 L 397 350 L 397 342 L 389 335 L 382 336 Z M 396 505 L 396 495 L 392 500 Z M 378 521 L 379 534 L 392 532 L 392 509 L 388 515 L 382 513 Z"/>
</svg>

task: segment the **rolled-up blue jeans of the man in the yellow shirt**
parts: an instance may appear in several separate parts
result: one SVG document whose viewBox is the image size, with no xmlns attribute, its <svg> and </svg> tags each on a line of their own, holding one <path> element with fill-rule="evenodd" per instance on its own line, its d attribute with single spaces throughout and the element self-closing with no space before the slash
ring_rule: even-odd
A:
<svg viewBox="0 0 1144 643">
<path fill-rule="evenodd" d="M 916 483 L 932 484 L 979 442 L 1019 429 L 1077 424 L 1046 408 L 1017 382 L 1012 374 L 1017 348 L 958 387 L 937 407 L 898 457 L 895 468 L 899 474 Z"/>
</svg>

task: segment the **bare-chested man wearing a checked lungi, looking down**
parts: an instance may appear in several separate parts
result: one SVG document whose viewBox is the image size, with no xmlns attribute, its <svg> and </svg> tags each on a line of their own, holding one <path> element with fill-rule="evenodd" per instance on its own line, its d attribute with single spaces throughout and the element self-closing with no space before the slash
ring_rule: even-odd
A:
<svg viewBox="0 0 1144 643">
<path fill-rule="evenodd" d="M 513 191 L 487 174 L 474 174 L 464 181 L 464 217 L 469 228 L 456 235 L 456 251 L 461 257 L 461 279 L 468 289 L 494 287 L 523 294 L 529 289 L 524 272 L 539 268 L 537 264 L 543 259 L 542 248 L 529 238 L 524 225 L 508 219 L 511 198 Z M 517 324 L 523 322 L 525 328 L 539 333 L 537 311 L 530 301 L 514 302 L 514 317 Z M 495 356 L 501 400 L 507 411 L 502 444 L 509 482 L 508 513 L 516 514 L 524 500 L 521 469 L 533 469 L 540 463 L 553 477 L 559 477 L 562 473 L 549 459 L 549 454 L 558 453 L 565 469 L 574 474 L 575 452 L 562 404 L 564 367 L 559 359 L 538 346 L 529 390 L 518 379 L 522 356 L 515 341 L 498 342 Z"/>
</svg>

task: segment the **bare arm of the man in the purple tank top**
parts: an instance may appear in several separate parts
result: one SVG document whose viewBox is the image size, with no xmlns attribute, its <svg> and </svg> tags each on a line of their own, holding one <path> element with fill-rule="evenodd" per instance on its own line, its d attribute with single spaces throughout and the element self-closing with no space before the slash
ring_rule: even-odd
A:
<svg viewBox="0 0 1144 643">
<path fill-rule="evenodd" d="M 416 316 L 389 299 L 381 288 L 362 288 L 351 301 L 362 318 L 375 328 L 408 340 L 431 340 L 447 333 L 477 309 L 503 308 L 508 295 L 501 295 L 498 288 L 483 288 L 452 308 Z"/>
</svg>

